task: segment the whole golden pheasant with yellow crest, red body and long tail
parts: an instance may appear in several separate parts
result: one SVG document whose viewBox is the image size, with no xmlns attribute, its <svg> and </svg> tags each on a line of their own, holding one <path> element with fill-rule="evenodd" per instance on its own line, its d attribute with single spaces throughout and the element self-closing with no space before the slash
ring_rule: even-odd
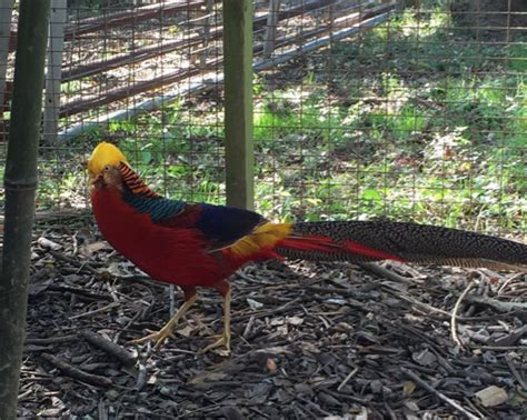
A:
<svg viewBox="0 0 527 420">
<path fill-rule="evenodd" d="M 223 333 L 203 351 L 230 352 L 229 277 L 250 261 L 379 261 L 488 267 L 527 271 L 527 246 L 434 226 L 392 221 L 272 223 L 242 209 L 158 196 L 115 146 L 102 142 L 88 161 L 93 214 L 101 233 L 155 280 L 179 286 L 185 303 L 157 332 L 136 340 L 172 337 L 196 301 L 196 288 L 223 296 Z"/>
</svg>

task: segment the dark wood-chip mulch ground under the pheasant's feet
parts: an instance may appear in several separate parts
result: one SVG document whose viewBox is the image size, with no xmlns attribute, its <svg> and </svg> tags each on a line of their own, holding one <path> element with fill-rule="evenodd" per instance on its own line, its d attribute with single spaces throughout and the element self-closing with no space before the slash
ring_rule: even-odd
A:
<svg viewBox="0 0 527 420">
<path fill-rule="evenodd" d="M 527 417 L 525 274 L 372 269 L 248 266 L 232 278 L 231 357 L 199 352 L 222 327 L 210 290 L 155 351 L 129 340 L 162 327 L 179 290 L 171 299 L 86 231 L 46 230 L 33 251 L 19 416 Z"/>
</svg>

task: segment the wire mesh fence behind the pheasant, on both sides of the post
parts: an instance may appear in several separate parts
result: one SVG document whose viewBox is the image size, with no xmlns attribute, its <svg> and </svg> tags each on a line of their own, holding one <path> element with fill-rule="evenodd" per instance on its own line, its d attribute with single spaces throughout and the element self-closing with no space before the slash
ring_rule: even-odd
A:
<svg viewBox="0 0 527 420">
<path fill-rule="evenodd" d="M 17 7 L 0 1 L 3 139 Z M 53 2 L 39 209 L 87 208 L 101 139 L 166 194 L 223 202 L 221 12 Z M 526 231 L 524 2 L 266 0 L 253 37 L 257 210 Z"/>
</svg>

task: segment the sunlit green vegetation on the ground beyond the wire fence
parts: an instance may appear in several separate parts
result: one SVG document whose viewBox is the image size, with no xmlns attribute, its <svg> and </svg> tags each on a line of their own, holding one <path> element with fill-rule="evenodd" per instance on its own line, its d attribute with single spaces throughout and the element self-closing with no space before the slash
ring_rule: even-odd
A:
<svg viewBox="0 0 527 420">
<path fill-rule="evenodd" d="M 257 210 L 527 231 L 527 43 L 487 41 L 456 31 L 448 13 L 406 10 L 257 77 Z M 120 138 L 155 188 L 222 202 L 221 106 L 210 93 L 76 144 Z M 43 179 L 42 200 L 79 192 L 71 159 Z"/>
</svg>

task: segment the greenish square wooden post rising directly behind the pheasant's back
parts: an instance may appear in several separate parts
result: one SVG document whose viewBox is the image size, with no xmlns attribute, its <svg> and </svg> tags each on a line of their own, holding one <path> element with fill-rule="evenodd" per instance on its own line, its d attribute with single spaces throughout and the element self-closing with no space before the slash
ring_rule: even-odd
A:
<svg viewBox="0 0 527 420">
<path fill-rule="evenodd" d="M 227 204 L 253 208 L 252 1 L 223 0 Z"/>
</svg>

